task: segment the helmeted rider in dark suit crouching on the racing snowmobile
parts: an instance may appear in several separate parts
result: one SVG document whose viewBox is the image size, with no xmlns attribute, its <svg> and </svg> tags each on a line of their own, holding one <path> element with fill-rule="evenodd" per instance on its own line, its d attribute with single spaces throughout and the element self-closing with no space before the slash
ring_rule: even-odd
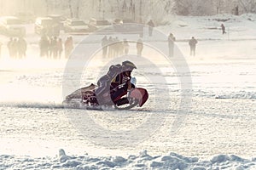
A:
<svg viewBox="0 0 256 170">
<path fill-rule="evenodd" d="M 131 61 L 124 61 L 122 65 L 111 65 L 108 73 L 97 82 L 96 99 L 100 105 L 125 105 L 129 101 L 122 98 L 134 88 L 131 84 L 131 72 L 137 69 Z M 112 100 L 112 101 L 111 101 Z"/>
</svg>

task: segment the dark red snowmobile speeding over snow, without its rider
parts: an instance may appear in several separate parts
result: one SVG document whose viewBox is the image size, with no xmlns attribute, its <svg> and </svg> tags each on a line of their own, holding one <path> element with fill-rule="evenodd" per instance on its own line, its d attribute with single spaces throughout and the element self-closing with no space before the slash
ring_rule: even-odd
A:
<svg viewBox="0 0 256 170">
<path fill-rule="evenodd" d="M 63 101 L 64 105 L 72 108 L 84 108 L 84 109 L 96 109 L 103 110 L 103 108 L 114 108 L 117 110 L 129 110 L 135 106 L 142 107 L 148 99 L 148 91 L 144 88 L 131 88 L 125 95 L 120 95 L 118 100 L 110 102 L 110 105 L 100 105 L 96 99 L 96 88 L 97 86 L 93 83 L 88 87 L 79 88 L 72 94 L 67 95 Z M 122 101 L 128 99 L 124 103 Z"/>
</svg>

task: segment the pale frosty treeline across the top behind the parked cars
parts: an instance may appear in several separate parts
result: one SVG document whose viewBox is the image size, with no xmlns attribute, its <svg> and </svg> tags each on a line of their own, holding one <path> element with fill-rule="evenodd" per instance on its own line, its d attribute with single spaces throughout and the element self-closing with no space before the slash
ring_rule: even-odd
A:
<svg viewBox="0 0 256 170">
<path fill-rule="evenodd" d="M 32 12 L 64 14 L 83 20 L 130 18 L 161 20 L 168 14 L 256 13 L 256 0 L 0 0 L 1 15 Z"/>
</svg>

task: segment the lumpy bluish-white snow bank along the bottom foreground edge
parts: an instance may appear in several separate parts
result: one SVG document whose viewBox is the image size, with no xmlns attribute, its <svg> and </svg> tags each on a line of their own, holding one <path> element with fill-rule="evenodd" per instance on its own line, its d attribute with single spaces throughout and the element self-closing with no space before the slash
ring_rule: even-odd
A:
<svg viewBox="0 0 256 170">
<path fill-rule="evenodd" d="M 0 156 L 0 169 L 255 169 L 256 159 L 235 155 L 213 156 L 209 161 L 181 156 L 171 152 L 166 156 L 149 156 L 143 150 L 138 156 L 67 156 L 59 150 L 58 157 L 31 158 L 28 156 Z"/>
</svg>

